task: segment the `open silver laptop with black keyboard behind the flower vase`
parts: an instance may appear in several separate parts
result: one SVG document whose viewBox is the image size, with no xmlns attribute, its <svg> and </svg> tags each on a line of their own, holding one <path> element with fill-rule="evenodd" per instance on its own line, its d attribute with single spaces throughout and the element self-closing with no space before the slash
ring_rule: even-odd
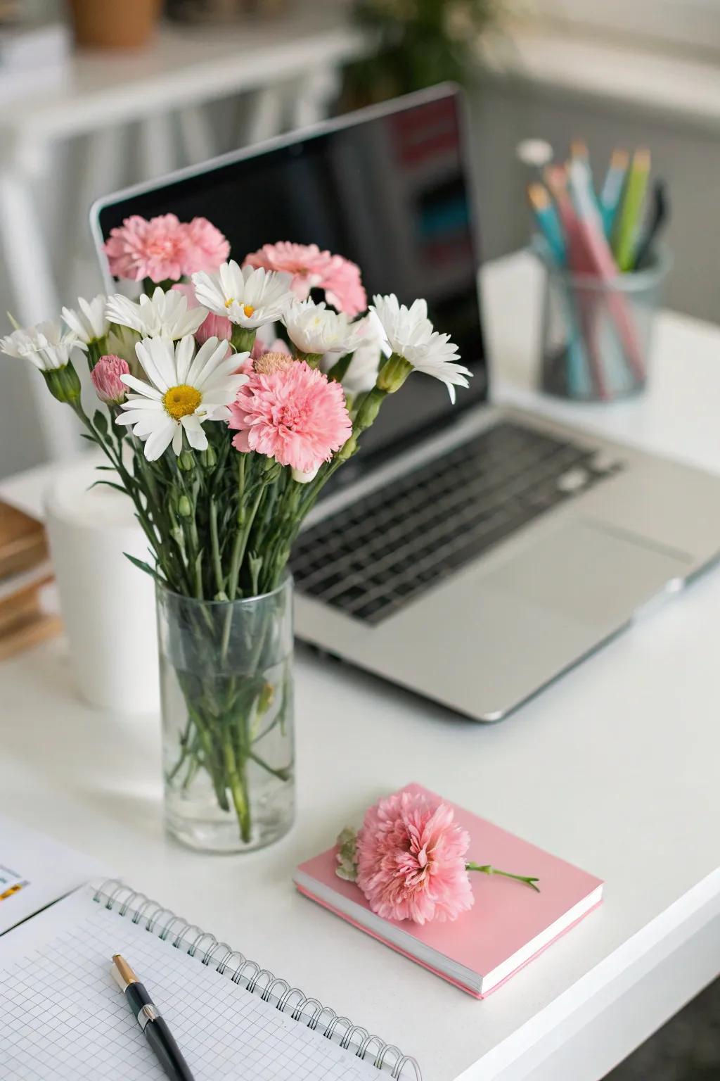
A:
<svg viewBox="0 0 720 1081">
<path fill-rule="evenodd" d="M 720 479 L 489 397 L 463 101 L 438 86 L 95 203 L 210 218 L 239 258 L 317 243 L 368 295 L 425 297 L 474 377 L 390 397 L 293 556 L 301 639 L 468 718 L 497 721 L 720 552 Z M 486 213 L 491 210 L 486 208 Z M 480 208 L 480 216 L 483 208 Z"/>
</svg>

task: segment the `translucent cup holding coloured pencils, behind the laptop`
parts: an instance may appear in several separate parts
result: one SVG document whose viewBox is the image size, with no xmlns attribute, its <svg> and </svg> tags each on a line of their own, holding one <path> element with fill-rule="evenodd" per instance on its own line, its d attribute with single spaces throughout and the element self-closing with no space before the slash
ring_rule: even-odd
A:
<svg viewBox="0 0 720 1081">
<path fill-rule="evenodd" d="M 642 270 L 602 280 L 571 273 L 536 248 L 545 275 L 540 386 L 575 401 L 628 398 L 648 382 L 650 347 L 663 281 L 665 252 Z"/>
</svg>

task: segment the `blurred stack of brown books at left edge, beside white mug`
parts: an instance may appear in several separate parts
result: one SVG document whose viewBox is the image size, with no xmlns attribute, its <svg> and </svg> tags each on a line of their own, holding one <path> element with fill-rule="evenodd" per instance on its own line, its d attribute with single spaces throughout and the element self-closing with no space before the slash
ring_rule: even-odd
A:
<svg viewBox="0 0 720 1081">
<path fill-rule="evenodd" d="M 0 502 L 0 660 L 60 626 L 42 523 Z"/>
</svg>

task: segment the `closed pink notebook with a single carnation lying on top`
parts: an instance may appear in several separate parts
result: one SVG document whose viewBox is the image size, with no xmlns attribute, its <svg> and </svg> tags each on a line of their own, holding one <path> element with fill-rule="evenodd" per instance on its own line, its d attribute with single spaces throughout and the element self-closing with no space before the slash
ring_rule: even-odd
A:
<svg viewBox="0 0 720 1081">
<path fill-rule="evenodd" d="M 296 869 L 298 890 L 477 998 L 602 895 L 600 879 L 417 784 L 339 842 Z"/>
</svg>

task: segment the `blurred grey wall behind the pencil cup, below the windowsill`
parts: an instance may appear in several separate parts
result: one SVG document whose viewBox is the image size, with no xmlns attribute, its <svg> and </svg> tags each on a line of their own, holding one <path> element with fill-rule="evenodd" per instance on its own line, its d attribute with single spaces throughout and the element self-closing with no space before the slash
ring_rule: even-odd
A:
<svg viewBox="0 0 720 1081">
<path fill-rule="evenodd" d="M 720 128 L 513 79 L 483 80 L 472 104 L 486 258 L 528 238 L 527 177 L 515 158 L 520 139 L 547 138 L 562 159 L 570 141 L 582 137 L 600 176 L 613 147 L 649 146 L 653 172 L 668 182 L 673 206 L 666 238 L 675 262 L 665 303 L 720 320 Z"/>
</svg>

